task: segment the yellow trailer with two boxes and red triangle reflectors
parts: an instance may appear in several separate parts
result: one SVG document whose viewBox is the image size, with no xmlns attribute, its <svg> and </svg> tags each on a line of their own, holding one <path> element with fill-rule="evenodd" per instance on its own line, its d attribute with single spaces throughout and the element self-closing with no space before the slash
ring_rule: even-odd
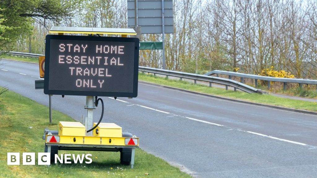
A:
<svg viewBox="0 0 317 178">
<path fill-rule="evenodd" d="M 80 122 L 60 122 L 59 131 L 45 130 L 43 136 L 45 152 L 51 153 L 53 160 L 58 150 L 115 151 L 120 152 L 121 164 L 131 164 L 133 168 L 135 148 L 139 148 L 139 138 L 130 133 L 122 133 L 121 127 L 114 123 L 99 125 L 94 129 L 94 133 L 102 136 L 98 134 L 86 136 L 86 127 Z"/>
</svg>

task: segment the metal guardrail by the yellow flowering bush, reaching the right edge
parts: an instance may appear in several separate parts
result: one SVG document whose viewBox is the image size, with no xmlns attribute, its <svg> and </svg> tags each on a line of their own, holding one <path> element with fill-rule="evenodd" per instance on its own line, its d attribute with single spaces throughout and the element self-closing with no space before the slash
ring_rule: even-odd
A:
<svg viewBox="0 0 317 178">
<path fill-rule="evenodd" d="M 213 70 L 211 72 L 205 73 L 204 75 L 209 76 L 214 74 L 216 74 L 217 76 L 218 74 L 229 75 L 229 79 L 231 79 L 232 76 L 241 77 L 241 83 L 244 82 L 244 78 L 255 79 L 256 87 L 258 86 L 258 80 L 265 80 L 265 81 L 268 81 L 268 89 L 270 89 L 271 87 L 270 81 L 283 82 L 284 90 L 286 90 L 287 83 L 298 83 L 300 87 L 302 87 L 303 84 L 317 86 L 317 80 L 311 80 L 311 79 L 289 79 L 289 78 L 266 77 L 266 76 L 260 76 L 260 75 L 252 75 L 252 74 L 228 72 L 228 71 L 220 71 L 220 70 Z"/>
</svg>

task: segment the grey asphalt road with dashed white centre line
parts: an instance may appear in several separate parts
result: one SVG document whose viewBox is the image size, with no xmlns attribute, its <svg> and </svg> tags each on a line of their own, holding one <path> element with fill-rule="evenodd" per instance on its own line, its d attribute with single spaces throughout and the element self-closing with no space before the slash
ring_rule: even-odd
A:
<svg viewBox="0 0 317 178">
<path fill-rule="evenodd" d="M 48 105 L 34 89 L 38 65 L 2 61 L 0 86 Z M 85 97 L 53 96 L 53 109 L 76 120 L 86 115 Z M 138 97 L 102 97 L 103 122 L 115 122 L 140 138 L 140 148 L 195 177 L 317 175 L 317 117 L 241 104 L 139 83 Z M 100 107 L 94 121 L 100 117 Z M 54 116 L 53 116 L 54 119 Z M 138 158 L 136 157 L 135 168 Z"/>
</svg>

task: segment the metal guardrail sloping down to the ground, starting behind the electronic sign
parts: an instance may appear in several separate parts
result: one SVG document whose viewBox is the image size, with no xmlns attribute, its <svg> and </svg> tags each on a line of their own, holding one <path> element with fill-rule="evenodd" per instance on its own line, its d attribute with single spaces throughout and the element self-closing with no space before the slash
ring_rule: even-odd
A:
<svg viewBox="0 0 317 178">
<path fill-rule="evenodd" d="M 157 69 L 152 67 L 142 67 L 142 66 L 139 66 L 139 72 L 147 72 L 147 73 L 154 73 L 154 74 L 160 74 L 160 75 L 166 75 L 166 76 L 172 76 L 172 77 L 179 77 L 180 79 L 183 79 L 183 78 L 192 79 L 194 80 L 195 84 L 196 84 L 196 81 L 198 80 L 198 81 L 209 82 L 209 86 L 211 86 L 211 83 L 216 83 L 216 84 L 225 85 L 225 86 L 232 86 L 234 88 L 237 88 L 239 90 L 242 90 L 248 93 L 261 93 L 259 89 L 253 88 L 251 86 L 245 85 L 235 80 L 224 79 L 220 77 L 213 77 L 213 76 L 186 73 L 186 72 L 178 72 L 178 71 L 165 70 L 165 69 Z"/>
</svg>

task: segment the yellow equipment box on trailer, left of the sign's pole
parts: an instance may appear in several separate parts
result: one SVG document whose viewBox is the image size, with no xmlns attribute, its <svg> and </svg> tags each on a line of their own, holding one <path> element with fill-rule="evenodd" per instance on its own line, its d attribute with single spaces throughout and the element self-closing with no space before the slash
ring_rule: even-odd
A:
<svg viewBox="0 0 317 178">
<path fill-rule="evenodd" d="M 80 122 L 63 122 L 59 123 L 59 135 L 68 135 L 68 136 L 85 136 L 86 127 Z"/>
</svg>

